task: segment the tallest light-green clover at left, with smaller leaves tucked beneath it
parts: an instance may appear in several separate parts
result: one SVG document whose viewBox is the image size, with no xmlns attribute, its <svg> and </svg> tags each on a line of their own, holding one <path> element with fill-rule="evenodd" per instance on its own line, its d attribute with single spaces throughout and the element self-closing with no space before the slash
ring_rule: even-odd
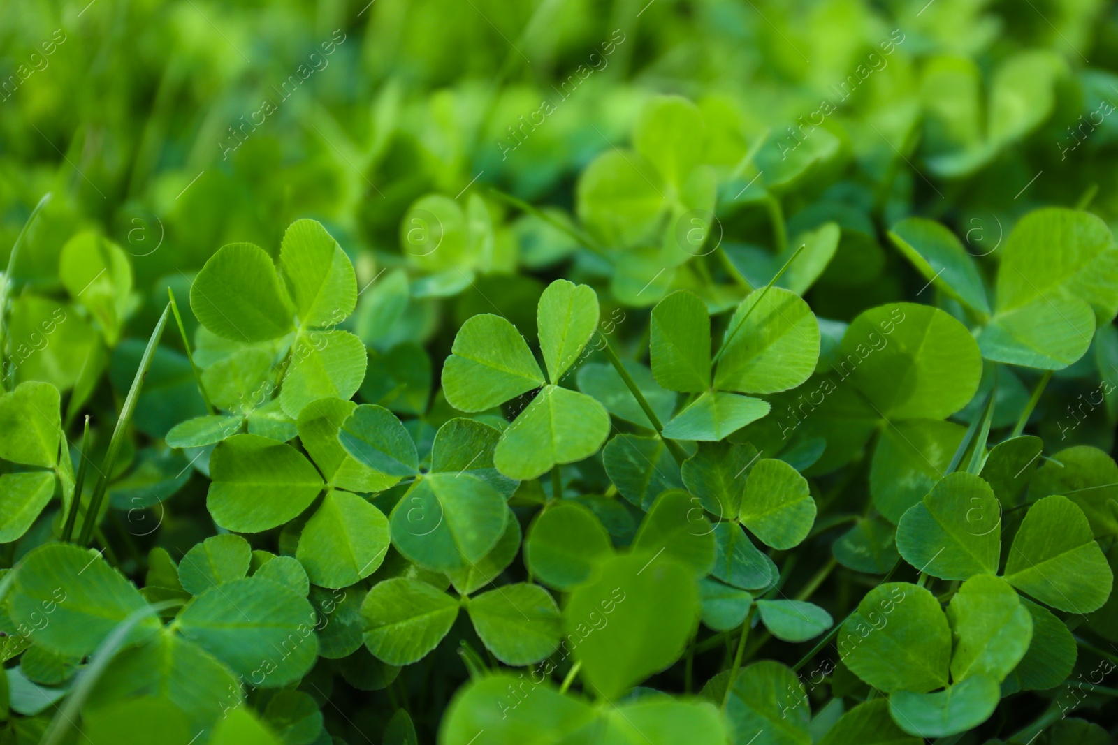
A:
<svg viewBox="0 0 1118 745">
<path fill-rule="evenodd" d="M 349 257 L 314 220 L 287 228 L 278 271 L 252 243 L 218 249 L 190 287 L 190 307 L 209 333 L 234 343 L 202 378 L 229 413 L 182 422 L 168 433 L 169 443 L 212 445 L 240 431 L 246 418 L 250 432 L 285 441 L 311 402 L 350 399 L 368 360 L 361 340 L 337 326 L 353 312 L 357 295 Z M 276 347 L 278 360 L 269 354 Z M 280 395 L 272 399 L 280 371 Z"/>
</svg>

